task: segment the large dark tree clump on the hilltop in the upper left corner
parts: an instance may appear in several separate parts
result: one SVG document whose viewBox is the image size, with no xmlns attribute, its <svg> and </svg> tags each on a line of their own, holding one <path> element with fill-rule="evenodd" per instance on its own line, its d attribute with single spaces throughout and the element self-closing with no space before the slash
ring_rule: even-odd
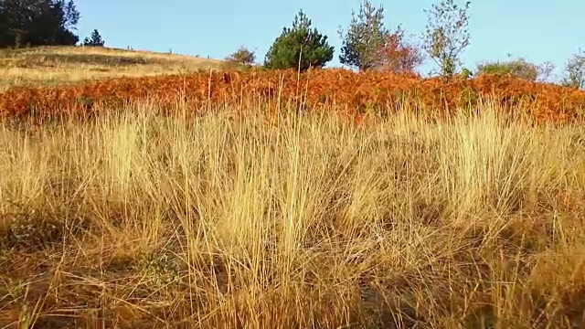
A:
<svg viewBox="0 0 585 329">
<path fill-rule="evenodd" d="M 80 20 L 72 0 L 1 0 L 0 48 L 75 45 Z"/>
</svg>

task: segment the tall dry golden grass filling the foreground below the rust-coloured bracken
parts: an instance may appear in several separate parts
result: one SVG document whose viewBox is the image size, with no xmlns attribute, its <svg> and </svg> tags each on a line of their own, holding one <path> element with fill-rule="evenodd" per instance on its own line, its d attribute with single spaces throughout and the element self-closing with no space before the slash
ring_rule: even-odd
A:
<svg viewBox="0 0 585 329">
<path fill-rule="evenodd" d="M 0 327 L 584 324 L 582 128 L 155 107 L 0 130 Z"/>
</svg>

